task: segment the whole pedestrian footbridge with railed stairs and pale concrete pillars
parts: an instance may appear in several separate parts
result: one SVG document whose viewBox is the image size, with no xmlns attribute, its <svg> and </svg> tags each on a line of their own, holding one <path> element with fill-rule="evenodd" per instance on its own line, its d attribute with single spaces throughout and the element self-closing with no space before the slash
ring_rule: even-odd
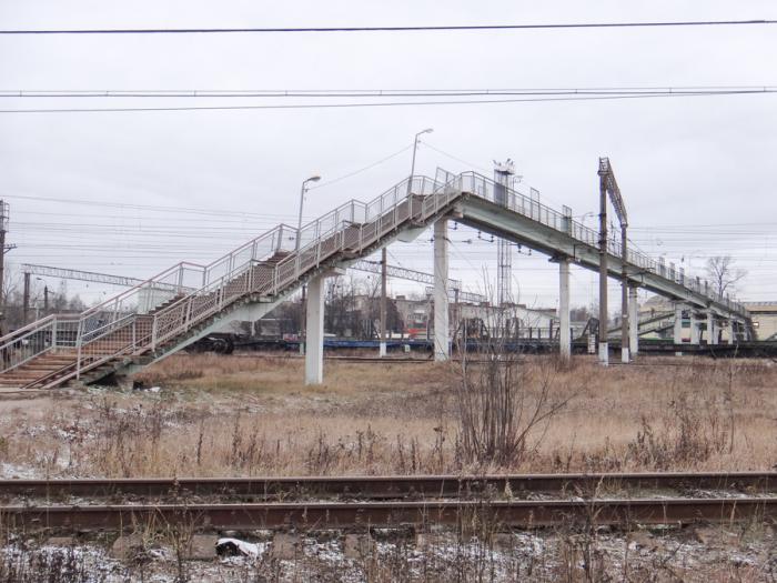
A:
<svg viewBox="0 0 777 583">
<path fill-rule="evenodd" d="M 279 224 L 210 264 L 178 263 L 81 314 L 52 314 L 7 334 L 0 338 L 0 385 L 54 388 L 71 380 L 88 383 L 117 371 L 131 372 L 225 322 L 262 318 L 303 284 L 307 285 L 305 381 L 320 383 L 324 279 L 430 227 L 434 228 L 435 359 L 445 360 L 450 354 L 450 220 L 558 262 L 561 351 L 568 354 L 569 264 L 598 270 L 598 233 L 573 220 L 569 212 L 553 210 L 475 172 L 438 170 L 434 179 L 411 177 L 370 202 L 352 200 L 300 232 Z M 669 298 L 678 310 L 707 314 L 713 326 L 748 322 L 743 304 L 716 294 L 698 278 L 633 250 L 622 258 L 615 240 L 608 241 L 607 252 L 610 277 L 622 278 L 622 260 L 626 260 L 633 296 L 637 288 L 645 288 Z M 632 303 L 636 306 L 636 301 Z"/>
</svg>

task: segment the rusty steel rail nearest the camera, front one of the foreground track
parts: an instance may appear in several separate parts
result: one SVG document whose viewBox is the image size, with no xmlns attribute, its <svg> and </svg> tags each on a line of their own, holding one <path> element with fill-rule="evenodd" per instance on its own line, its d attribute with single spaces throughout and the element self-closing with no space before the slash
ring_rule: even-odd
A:
<svg viewBox="0 0 777 583">
<path fill-rule="evenodd" d="M 163 504 L 105 506 L 3 506 L 11 529 L 71 531 L 164 529 L 353 529 L 458 524 L 482 520 L 495 526 L 586 524 L 690 524 L 777 520 L 777 499 L 666 499 L 595 501 L 306 502 L 258 504 Z"/>
</svg>

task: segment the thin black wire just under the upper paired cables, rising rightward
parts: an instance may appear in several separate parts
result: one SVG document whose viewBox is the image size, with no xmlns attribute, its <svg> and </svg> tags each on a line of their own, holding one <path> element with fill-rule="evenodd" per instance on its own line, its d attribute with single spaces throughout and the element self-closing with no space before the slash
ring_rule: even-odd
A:
<svg viewBox="0 0 777 583">
<path fill-rule="evenodd" d="M 682 98 L 682 97 L 719 97 L 719 96 L 754 96 L 775 93 L 777 89 L 760 88 L 757 90 L 726 90 L 726 91 L 694 91 L 677 93 L 666 91 L 663 93 L 639 94 L 607 94 L 607 96 L 554 96 L 554 97 L 522 97 L 511 99 L 454 99 L 431 101 L 370 101 L 345 103 L 264 103 L 252 105 L 159 105 L 148 108 L 51 108 L 51 109 L 0 109 L 0 113 L 99 113 L 99 112 L 130 112 L 130 111 L 242 111 L 242 110 L 294 110 L 294 109 L 349 109 L 349 108 L 387 108 L 412 105 L 463 105 L 463 104 L 496 104 L 496 103 L 527 103 L 551 101 L 603 101 L 620 99 L 655 99 L 655 98 Z"/>
</svg>

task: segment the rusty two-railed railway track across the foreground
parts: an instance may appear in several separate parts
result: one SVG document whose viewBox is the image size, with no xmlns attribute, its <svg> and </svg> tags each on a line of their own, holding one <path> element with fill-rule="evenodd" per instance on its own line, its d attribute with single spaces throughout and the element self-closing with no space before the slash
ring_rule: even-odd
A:
<svg viewBox="0 0 777 583">
<path fill-rule="evenodd" d="M 473 520 L 498 527 L 774 522 L 775 487 L 775 472 L 7 480 L 0 495 L 24 501 L 6 502 L 0 520 L 11 529 L 77 532 L 171 524 L 195 531 L 424 527 Z M 203 502 L 206 496 L 216 500 Z"/>
</svg>

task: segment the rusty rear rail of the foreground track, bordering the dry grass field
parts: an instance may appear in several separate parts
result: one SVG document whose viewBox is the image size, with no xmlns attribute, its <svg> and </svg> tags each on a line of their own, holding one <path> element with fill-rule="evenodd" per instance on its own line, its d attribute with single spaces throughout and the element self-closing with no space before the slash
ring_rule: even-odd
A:
<svg viewBox="0 0 777 583">
<path fill-rule="evenodd" d="M 777 472 L 595 473 L 524 475 L 407 475 L 300 478 L 60 479 L 2 480 L 0 499 L 221 496 L 229 500 L 293 500 L 340 496 L 367 500 L 475 497 L 694 490 L 745 493 L 777 490 Z"/>
</svg>

